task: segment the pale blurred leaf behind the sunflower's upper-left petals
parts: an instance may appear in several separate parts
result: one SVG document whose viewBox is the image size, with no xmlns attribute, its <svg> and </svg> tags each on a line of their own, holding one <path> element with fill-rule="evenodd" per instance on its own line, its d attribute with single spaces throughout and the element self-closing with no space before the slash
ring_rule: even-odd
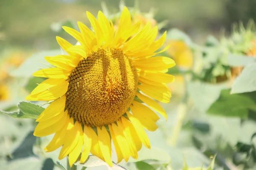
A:
<svg viewBox="0 0 256 170">
<path fill-rule="evenodd" d="M 10 74 L 13 77 L 31 77 L 35 71 L 38 71 L 40 68 L 45 68 L 46 66 L 42 63 L 47 64 L 47 61 L 44 59 L 46 56 L 55 56 L 60 55 L 61 50 L 49 50 L 41 51 L 36 54 L 33 54 L 31 57 L 26 59 L 20 67 L 12 71 Z"/>
</svg>

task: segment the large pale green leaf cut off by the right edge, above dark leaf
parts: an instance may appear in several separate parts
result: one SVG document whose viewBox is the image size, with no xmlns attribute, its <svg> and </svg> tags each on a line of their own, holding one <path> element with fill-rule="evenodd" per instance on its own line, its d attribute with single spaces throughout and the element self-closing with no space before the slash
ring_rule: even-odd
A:
<svg viewBox="0 0 256 170">
<path fill-rule="evenodd" d="M 236 78 L 231 88 L 231 94 L 256 91 L 256 63 L 247 65 Z"/>
</svg>

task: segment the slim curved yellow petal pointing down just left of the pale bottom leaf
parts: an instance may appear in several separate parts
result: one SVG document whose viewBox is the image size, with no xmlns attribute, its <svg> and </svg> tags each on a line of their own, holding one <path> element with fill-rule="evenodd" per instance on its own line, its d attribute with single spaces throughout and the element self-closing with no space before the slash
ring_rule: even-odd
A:
<svg viewBox="0 0 256 170">
<path fill-rule="evenodd" d="M 81 150 L 82 150 L 83 144 L 84 144 L 84 133 L 83 133 L 83 129 L 82 129 L 81 125 L 78 128 L 78 131 L 79 131 L 79 138 L 78 138 L 76 147 L 68 155 L 70 167 L 72 167 L 73 164 L 76 162 L 77 158 L 79 157 L 79 155 L 81 153 Z"/>
</svg>

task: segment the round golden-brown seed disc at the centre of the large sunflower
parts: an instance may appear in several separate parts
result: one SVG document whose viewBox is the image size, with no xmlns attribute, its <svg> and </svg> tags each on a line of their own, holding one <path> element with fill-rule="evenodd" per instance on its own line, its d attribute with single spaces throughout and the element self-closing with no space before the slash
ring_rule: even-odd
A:
<svg viewBox="0 0 256 170">
<path fill-rule="evenodd" d="M 82 59 L 69 76 L 66 110 L 81 124 L 109 125 L 134 100 L 138 77 L 122 50 L 99 48 Z"/>
</svg>

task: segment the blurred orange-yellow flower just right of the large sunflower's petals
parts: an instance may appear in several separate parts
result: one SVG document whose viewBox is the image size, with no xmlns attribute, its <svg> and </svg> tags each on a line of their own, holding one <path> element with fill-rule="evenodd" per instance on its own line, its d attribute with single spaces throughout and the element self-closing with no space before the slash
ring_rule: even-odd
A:
<svg viewBox="0 0 256 170">
<path fill-rule="evenodd" d="M 192 68 L 193 54 L 189 46 L 180 40 L 171 40 L 168 42 L 170 45 L 168 54 L 175 60 L 175 63 L 180 68 Z"/>
</svg>

